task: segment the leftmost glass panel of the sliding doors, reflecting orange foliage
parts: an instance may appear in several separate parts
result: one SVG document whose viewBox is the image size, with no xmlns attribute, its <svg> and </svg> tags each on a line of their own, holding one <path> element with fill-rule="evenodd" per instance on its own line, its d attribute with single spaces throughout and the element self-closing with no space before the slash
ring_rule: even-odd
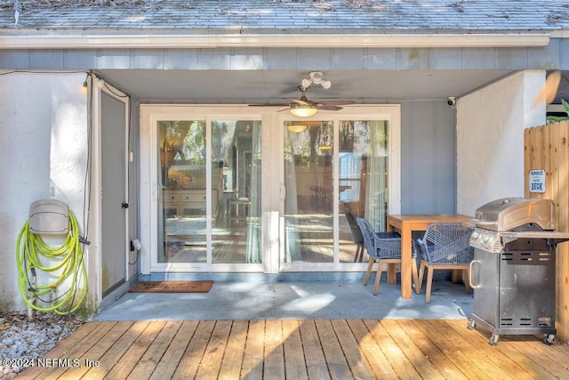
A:
<svg viewBox="0 0 569 380">
<path fill-rule="evenodd" d="M 158 263 L 206 263 L 205 121 L 157 126 Z"/>
</svg>

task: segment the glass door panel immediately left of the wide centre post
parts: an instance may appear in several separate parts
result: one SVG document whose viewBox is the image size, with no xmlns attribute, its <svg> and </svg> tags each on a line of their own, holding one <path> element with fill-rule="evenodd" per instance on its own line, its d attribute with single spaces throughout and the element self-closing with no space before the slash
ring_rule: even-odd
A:
<svg viewBox="0 0 569 380">
<path fill-rule="evenodd" d="M 261 263 L 260 121 L 212 121 L 212 263 Z"/>
</svg>

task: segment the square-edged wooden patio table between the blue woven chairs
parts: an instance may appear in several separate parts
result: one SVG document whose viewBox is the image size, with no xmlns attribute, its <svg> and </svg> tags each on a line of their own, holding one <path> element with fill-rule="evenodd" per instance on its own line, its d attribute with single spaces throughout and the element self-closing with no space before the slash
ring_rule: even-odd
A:
<svg viewBox="0 0 569 380">
<path fill-rule="evenodd" d="M 401 233 L 401 296 L 411 298 L 411 240 L 414 230 L 427 230 L 435 222 L 469 222 L 471 216 L 461 214 L 388 215 L 387 230 Z"/>
</svg>

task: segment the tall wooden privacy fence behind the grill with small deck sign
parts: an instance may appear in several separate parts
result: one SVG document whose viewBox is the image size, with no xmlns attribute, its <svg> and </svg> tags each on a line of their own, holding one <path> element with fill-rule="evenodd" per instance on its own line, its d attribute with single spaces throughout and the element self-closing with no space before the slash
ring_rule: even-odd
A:
<svg viewBox="0 0 569 380">
<path fill-rule="evenodd" d="M 557 231 L 569 232 L 569 121 L 525 129 L 525 197 L 553 199 Z M 530 190 L 530 171 L 545 171 L 544 192 Z M 535 189 L 534 189 L 535 190 Z M 569 242 L 557 246 L 557 339 L 569 343 Z"/>
</svg>

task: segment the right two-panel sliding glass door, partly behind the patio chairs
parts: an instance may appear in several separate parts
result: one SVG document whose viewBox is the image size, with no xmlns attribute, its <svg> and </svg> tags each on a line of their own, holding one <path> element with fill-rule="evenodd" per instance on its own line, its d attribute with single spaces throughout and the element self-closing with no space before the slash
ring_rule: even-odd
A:
<svg viewBox="0 0 569 380">
<path fill-rule="evenodd" d="M 386 230 L 389 164 L 388 120 L 285 120 L 284 268 L 361 261 L 346 213 Z"/>
</svg>

